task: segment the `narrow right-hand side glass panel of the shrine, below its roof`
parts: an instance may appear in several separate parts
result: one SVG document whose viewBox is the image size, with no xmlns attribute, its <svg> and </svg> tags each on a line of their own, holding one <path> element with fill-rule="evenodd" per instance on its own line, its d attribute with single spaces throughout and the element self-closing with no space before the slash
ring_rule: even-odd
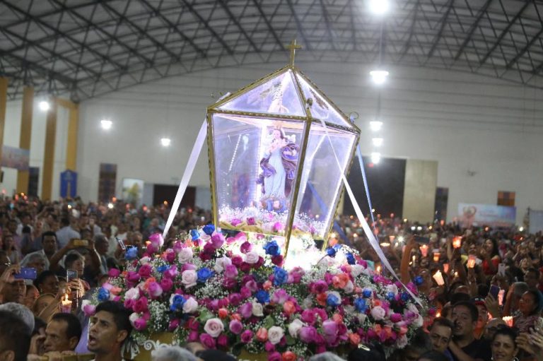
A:
<svg viewBox="0 0 543 361">
<path fill-rule="evenodd" d="M 331 128 L 328 128 L 328 132 L 342 167 L 341 172 L 344 172 L 351 160 L 356 136 Z M 323 239 L 336 211 L 334 206 L 340 186 L 341 174 L 325 130 L 320 124 L 313 123 L 296 203 L 296 229 L 310 232 L 315 239 Z"/>
</svg>

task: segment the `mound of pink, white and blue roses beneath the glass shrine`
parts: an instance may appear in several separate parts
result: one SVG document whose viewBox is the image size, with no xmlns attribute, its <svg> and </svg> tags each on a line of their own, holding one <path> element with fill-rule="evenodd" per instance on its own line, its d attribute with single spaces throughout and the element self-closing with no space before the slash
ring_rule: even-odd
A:
<svg viewBox="0 0 543 361">
<path fill-rule="evenodd" d="M 128 249 L 126 271 L 112 269 L 83 306 L 90 315 L 104 300 L 123 302 L 140 345 L 169 331 L 176 343 L 303 360 L 361 344 L 403 348 L 423 324 L 424 309 L 401 284 L 375 273 L 348 247 L 327 249 L 304 270 L 286 269 L 270 236 L 225 237 L 213 225 L 192 230 L 172 248 L 163 249 L 160 235 L 147 243 L 141 259 Z M 412 283 L 407 287 L 416 294 Z"/>
</svg>

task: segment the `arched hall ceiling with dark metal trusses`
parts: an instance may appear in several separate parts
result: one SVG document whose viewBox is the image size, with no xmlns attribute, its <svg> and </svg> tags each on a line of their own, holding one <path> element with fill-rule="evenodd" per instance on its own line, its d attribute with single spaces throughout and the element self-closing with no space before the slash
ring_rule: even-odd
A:
<svg viewBox="0 0 543 361">
<path fill-rule="evenodd" d="M 81 100 L 158 78 L 288 61 L 467 71 L 543 88 L 543 0 L 0 1 L 0 76 Z"/>
</svg>

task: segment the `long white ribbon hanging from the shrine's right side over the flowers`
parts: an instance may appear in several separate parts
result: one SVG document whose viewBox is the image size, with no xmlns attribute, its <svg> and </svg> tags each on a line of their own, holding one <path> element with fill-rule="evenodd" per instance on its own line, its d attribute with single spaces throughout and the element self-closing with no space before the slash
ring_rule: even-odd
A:
<svg viewBox="0 0 543 361">
<path fill-rule="evenodd" d="M 347 181 L 347 178 L 345 177 L 344 170 L 341 167 L 341 163 L 339 162 L 339 158 L 337 157 L 336 150 L 334 149 L 334 145 L 332 144 L 332 139 L 330 138 L 330 134 L 328 133 L 328 128 L 326 126 L 326 123 L 321 119 L 320 123 L 322 124 L 322 127 L 325 129 L 326 138 L 328 139 L 328 143 L 330 143 L 330 148 L 332 148 L 332 153 L 334 153 L 334 158 L 336 159 L 336 164 L 339 170 L 339 174 L 341 174 L 341 179 L 343 180 L 343 184 L 345 184 L 345 189 L 347 191 L 347 194 L 349 194 L 349 199 L 351 199 L 351 203 L 354 207 L 354 213 L 356 213 L 356 217 L 358 217 L 358 220 L 360 220 L 360 223 L 362 225 L 362 229 L 364 230 L 364 233 L 366 233 L 366 237 L 368 237 L 368 240 L 370 241 L 371 247 L 375 249 L 375 252 L 379 256 L 379 259 L 381 260 L 381 263 L 387 268 L 388 271 L 396 278 L 399 283 L 402 283 L 402 280 L 399 279 L 396 272 L 394 271 L 394 268 L 390 266 L 390 263 L 388 262 L 387 256 L 385 256 L 385 253 L 383 253 L 383 249 L 381 249 L 379 242 L 377 239 L 375 239 L 375 235 L 373 235 L 373 232 L 371 232 L 370 226 L 368 225 L 368 222 L 366 222 L 366 218 L 364 217 L 364 214 L 362 213 L 362 210 L 360 206 L 358 205 L 358 202 L 354 198 L 353 191 L 351 189 L 351 186 L 349 185 L 349 182 Z M 402 286 L 404 286 L 405 290 L 409 292 L 409 295 L 413 297 L 416 303 L 420 304 L 422 307 L 422 302 L 419 300 L 419 297 L 416 297 L 409 288 L 402 283 Z"/>
</svg>

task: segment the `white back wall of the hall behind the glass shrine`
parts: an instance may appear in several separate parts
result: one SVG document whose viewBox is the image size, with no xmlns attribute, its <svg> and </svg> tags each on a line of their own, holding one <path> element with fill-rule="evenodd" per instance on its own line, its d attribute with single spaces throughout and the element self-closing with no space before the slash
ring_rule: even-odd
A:
<svg viewBox="0 0 543 361">
<path fill-rule="evenodd" d="M 83 199 L 98 196 L 100 162 L 117 163 L 122 178 L 174 184 L 185 169 L 206 106 L 219 92 L 236 90 L 284 64 L 215 69 L 139 85 L 81 103 L 78 189 Z M 371 152 L 368 121 L 377 93 L 368 66 L 298 64 L 344 112 L 356 111 L 362 152 Z M 457 203 L 495 204 L 498 191 L 515 191 L 521 222 L 528 206 L 543 208 L 543 91 L 467 73 L 392 68 L 381 89 L 383 156 L 438 160 L 438 186 L 449 188 L 449 220 Z M 20 117 L 20 116 L 19 116 Z M 100 129 L 100 119 L 114 124 Z M 33 130 L 33 142 L 35 141 Z M 6 138 L 7 136 L 6 124 Z M 169 135 L 172 145 L 160 146 Z M 18 139 L 18 136 L 17 136 Z M 7 143 L 7 142 L 6 142 Z M 34 143 L 33 143 L 34 145 Z M 38 151 L 42 152 L 42 145 Z M 34 150 L 32 150 L 34 152 Z M 32 155 L 32 154 L 31 154 Z M 473 176 L 468 174 L 475 172 Z M 192 185 L 209 187 L 204 148 Z"/>
</svg>

